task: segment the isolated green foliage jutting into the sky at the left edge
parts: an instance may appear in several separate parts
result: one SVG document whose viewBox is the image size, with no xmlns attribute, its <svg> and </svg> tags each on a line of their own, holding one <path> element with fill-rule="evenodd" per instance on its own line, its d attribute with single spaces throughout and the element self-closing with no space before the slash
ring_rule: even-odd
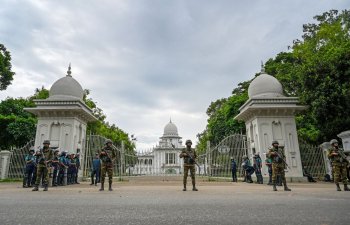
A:
<svg viewBox="0 0 350 225">
<path fill-rule="evenodd" d="M 0 44 L 0 90 L 6 90 L 13 80 L 11 71 L 11 54 L 3 44 Z"/>
</svg>

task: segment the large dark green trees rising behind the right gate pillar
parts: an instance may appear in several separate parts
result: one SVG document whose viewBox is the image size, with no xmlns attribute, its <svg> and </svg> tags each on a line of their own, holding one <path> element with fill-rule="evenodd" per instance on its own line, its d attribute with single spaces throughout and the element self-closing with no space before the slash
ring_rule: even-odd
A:
<svg viewBox="0 0 350 225">
<path fill-rule="evenodd" d="M 297 96 L 309 106 L 296 116 L 300 138 L 319 144 L 350 128 L 350 11 L 330 10 L 303 25 L 303 35 L 286 52 L 265 63 L 286 96 Z M 245 132 L 244 124 L 233 120 L 248 99 L 250 81 L 242 82 L 228 98 L 216 100 L 207 110 L 208 124 L 198 134 L 198 148 L 206 141 L 218 144 L 225 136 Z"/>
</svg>

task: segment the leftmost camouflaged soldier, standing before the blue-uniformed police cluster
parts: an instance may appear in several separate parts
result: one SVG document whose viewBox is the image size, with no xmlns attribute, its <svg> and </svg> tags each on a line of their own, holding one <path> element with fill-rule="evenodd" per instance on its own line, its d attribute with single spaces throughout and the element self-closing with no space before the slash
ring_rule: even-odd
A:
<svg viewBox="0 0 350 225">
<path fill-rule="evenodd" d="M 38 159 L 38 165 L 37 165 L 37 176 L 36 176 L 36 182 L 35 187 L 33 191 L 39 191 L 39 183 L 41 176 L 43 176 L 43 185 L 44 185 L 44 191 L 47 191 L 48 183 L 49 183 L 49 163 L 51 163 L 53 158 L 53 152 L 50 148 L 50 141 L 45 140 L 43 142 L 43 149 L 40 150 L 40 155 Z"/>
</svg>

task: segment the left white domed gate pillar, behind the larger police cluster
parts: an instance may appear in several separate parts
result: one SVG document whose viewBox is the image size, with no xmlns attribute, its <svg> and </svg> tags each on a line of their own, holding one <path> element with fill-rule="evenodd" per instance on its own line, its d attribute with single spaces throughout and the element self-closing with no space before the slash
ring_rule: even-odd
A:
<svg viewBox="0 0 350 225">
<path fill-rule="evenodd" d="M 42 147 L 44 140 L 50 140 L 52 148 L 80 152 L 81 165 L 84 165 L 86 126 L 96 118 L 84 103 L 83 96 L 84 90 L 72 77 L 69 65 L 67 75 L 51 86 L 49 98 L 36 99 L 36 107 L 25 108 L 38 118 L 35 148 Z"/>
</svg>

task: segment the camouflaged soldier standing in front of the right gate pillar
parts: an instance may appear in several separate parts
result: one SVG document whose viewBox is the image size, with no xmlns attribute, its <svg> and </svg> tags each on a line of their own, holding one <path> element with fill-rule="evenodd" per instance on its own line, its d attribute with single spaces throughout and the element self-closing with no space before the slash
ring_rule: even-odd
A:
<svg viewBox="0 0 350 225">
<path fill-rule="evenodd" d="M 269 149 L 269 152 L 267 154 L 267 157 L 269 157 L 272 160 L 272 185 L 273 190 L 277 191 L 276 188 L 276 177 L 277 175 L 280 175 L 281 180 L 284 185 L 285 191 L 291 191 L 287 187 L 287 181 L 284 173 L 284 169 L 286 168 L 286 161 L 285 161 L 285 155 L 282 151 L 282 149 L 278 146 L 278 141 L 272 142 L 272 148 Z"/>
</svg>

